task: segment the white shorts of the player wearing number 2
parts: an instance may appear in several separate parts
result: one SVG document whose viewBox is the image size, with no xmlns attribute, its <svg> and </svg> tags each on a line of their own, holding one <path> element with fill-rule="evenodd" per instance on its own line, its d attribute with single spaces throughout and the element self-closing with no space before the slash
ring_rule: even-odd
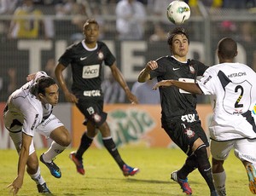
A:
<svg viewBox="0 0 256 196">
<path fill-rule="evenodd" d="M 256 140 L 211 141 L 210 148 L 214 159 L 228 159 L 231 149 L 234 149 L 238 159 L 256 164 Z"/>
</svg>

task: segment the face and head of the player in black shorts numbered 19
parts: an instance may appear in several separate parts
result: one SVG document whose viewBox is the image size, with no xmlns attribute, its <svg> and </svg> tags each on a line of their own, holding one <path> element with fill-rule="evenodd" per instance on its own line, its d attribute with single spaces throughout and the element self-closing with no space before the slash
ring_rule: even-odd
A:
<svg viewBox="0 0 256 196">
<path fill-rule="evenodd" d="M 84 26 L 85 43 L 96 43 L 99 37 L 99 26 L 96 24 L 89 24 Z"/>
</svg>

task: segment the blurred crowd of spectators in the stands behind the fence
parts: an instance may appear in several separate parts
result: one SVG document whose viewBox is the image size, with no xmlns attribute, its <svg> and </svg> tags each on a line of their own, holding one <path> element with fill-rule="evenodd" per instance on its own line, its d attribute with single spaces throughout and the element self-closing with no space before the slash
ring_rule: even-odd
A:
<svg viewBox="0 0 256 196">
<path fill-rule="evenodd" d="M 80 33 L 84 20 L 95 18 L 101 26 L 101 38 L 144 39 L 150 41 L 165 39 L 166 8 L 173 0 L 0 0 L 0 14 L 13 15 L 13 20 L 1 21 L 0 33 L 9 38 L 53 38 L 64 37 L 66 25 L 72 25 L 72 40 L 83 38 Z M 208 9 L 255 10 L 256 0 L 184 0 L 193 15 L 201 14 L 200 5 Z M 55 15 L 44 18 L 43 15 Z M 108 15 L 116 20 L 104 20 Z M 1 15 L 0 15 L 1 16 Z M 65 20 L 72 16 L 70 20 Z M 24 18 L 26 20 L 24 20 Z M 148 18 L 151 18 L 148 22 Z M 58 20 L 60 19 L 60 20 Z M 63 21 L 64 20 L 64 21 Z M 67 24 L 65 23 L 67 22 Z M 237 28 L 224 21 L 221 30 Z M 230 21 L 228 21 L 230 22 Z M 61 23 L 61 24 L 60 24 Z M 232 23 L 232 22 L 231 22 Z M 61 32 L 61 33 L 59 33 Z M 64 34 L 63 34 L 64 33 Z M 67 32 L 67 34 L 70 32 Z"/>
</svg>

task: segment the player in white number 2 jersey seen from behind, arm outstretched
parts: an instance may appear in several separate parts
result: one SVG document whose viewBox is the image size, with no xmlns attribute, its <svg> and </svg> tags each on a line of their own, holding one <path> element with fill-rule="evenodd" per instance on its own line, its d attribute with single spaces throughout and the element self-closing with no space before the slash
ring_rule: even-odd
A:
<svg viewBox="0 0 256 196">
<path fill-rule="evenodd" d="M 228 37 L 218 43 L 219 64 L 211 66 L 197 84 L 163 80 L 154 86 L 177 86 L 195 94 L 211 95 L 212 174 L 218 195 L 226 195 L 224 160 L 234 148 L 247 170 L 249 188 L 256 194 L 256 73 L 234 62 L 236 42 Z"/>
</svg>

